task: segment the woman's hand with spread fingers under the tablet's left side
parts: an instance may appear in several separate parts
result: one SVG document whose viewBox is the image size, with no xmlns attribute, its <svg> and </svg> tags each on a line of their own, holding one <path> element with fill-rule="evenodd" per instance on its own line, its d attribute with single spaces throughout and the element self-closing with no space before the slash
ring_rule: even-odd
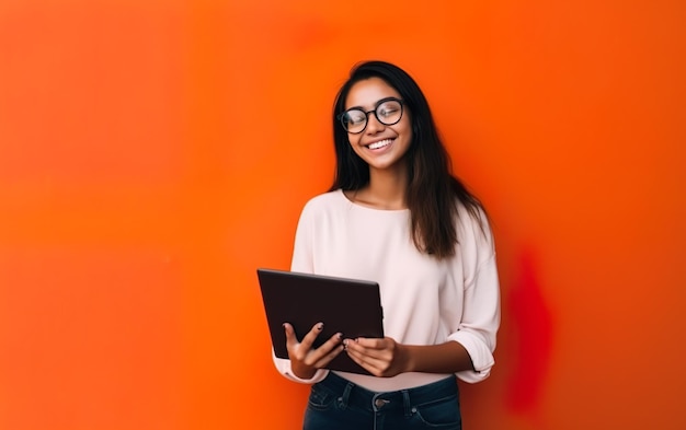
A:
<svg viewBox="0 0 686 430">
<path fill-rule="evenodd" d="M 327 367 L 344 349 L 342 344 L 343 335 L 341 333 L 331 336 L 319 348 L 312 347 L 315 339 L 317 339 L 323 327 L 323 323 L 315 324 L 312 329 L 305 335 L 302 341 L 298 341 L 293 326 L 288 323 L 284 324 L 290 369 L 296 376 L 302 380 L 309 380 L 315 376 L 318 369 Z"/>
</svg>

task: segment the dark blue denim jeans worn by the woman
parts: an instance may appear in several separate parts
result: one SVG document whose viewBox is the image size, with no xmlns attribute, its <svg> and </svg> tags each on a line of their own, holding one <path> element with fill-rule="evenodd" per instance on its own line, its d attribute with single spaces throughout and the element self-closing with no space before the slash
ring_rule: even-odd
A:
<svg viewBox="0 0 686 430">
<path fill-rule="evenodd" d="M 375 393 L 330 372 L 312 385 L 304 430 L 461 430 L 455 376 L 390 393 Z"/>
</svg>

